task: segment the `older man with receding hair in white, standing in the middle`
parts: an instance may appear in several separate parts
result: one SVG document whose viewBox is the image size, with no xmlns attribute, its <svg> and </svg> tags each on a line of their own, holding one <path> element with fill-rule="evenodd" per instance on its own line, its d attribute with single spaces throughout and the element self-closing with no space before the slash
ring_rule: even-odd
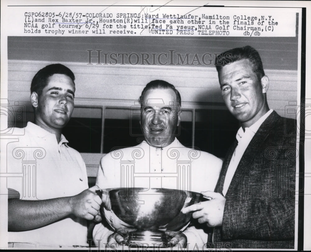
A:
<svg viewBox="0 0 311 252">
<path fill-rule="evenodd" d="M 144 138 L 137 146 L 106 154 L 100 161 L 96 185 L 102 189 L 214 190 L 222 161 L 210 153 L 184 147 L 176 138 L 181 114 L 178 90 L 166 81 L 154 80 L 143 89 L 139 100 Z M 203 229 L 192 226 L 175 236 L 171 245 L 187 242 L 189 249 L 195 244 L 202 248 L 206 236 Z M 108 223 L 97 224 L 93 238 L 101 247 L 107 242 L 113 245 L 123 241 Z"/>
</svg>

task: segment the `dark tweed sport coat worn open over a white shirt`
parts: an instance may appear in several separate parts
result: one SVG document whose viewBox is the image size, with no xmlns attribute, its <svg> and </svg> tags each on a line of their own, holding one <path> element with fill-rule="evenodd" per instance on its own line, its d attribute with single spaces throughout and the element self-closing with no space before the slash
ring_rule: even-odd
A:
<svg viewBox="0 0 311 252">
<path fill-rule="evenodd" d="M 230 147 L 216 192 L 237 146 Z M 221 227 L 214 228 L 216 248 L 294 248 L 296 126 L 273 111 L 245 150 L 226 193 Z"/>
</svg>

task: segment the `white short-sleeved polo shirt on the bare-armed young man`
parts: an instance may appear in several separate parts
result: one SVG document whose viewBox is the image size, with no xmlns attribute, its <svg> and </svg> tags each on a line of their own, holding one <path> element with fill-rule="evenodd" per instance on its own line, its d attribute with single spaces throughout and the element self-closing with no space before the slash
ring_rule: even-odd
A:
<svg viewBox="0 0 311 252">
<path fill-rule="evenodd" d="M 63 135 L 57 143 L 54 134 L 28 122 L 25 135 L 7 145 L 7 172 L 16 173 L 7 178 L 7 187 L 24 200 L 73 196 L 87 189 L 85 163 L 67 143 Z M 8 232 L 8 241 L 86 246 L 86 236 L 86 220 L 72 216 L 34 230 Z"/>
</svg>

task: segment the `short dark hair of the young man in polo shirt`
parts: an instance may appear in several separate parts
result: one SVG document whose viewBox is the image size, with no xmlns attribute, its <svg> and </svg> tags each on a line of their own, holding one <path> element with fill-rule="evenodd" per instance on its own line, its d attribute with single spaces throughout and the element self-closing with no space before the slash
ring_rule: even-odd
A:
<svg viewBox="0 0 311 252">
<path fill-rule="evenodd" d="M 36 92 L 38 95 L 42 93 L 42 90 L 48 85 L 48 79 L 53 74 L 64 74 L 72 79 L 75 84 L 75 75 L 73 72 L 62 64 L 52 64 L 40 69 L 31 81 L 30 92 Z"/>
</svg>

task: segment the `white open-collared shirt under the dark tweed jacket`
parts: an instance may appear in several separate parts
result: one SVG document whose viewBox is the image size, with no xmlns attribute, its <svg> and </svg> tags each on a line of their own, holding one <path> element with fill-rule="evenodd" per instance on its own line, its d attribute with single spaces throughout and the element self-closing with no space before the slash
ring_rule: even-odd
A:
<svg viewBox="0 0 311 252">
<path fill-rule="evenodd" d="M 253 136 L 258 131 L 259 127 L 262 125 L 262 123 L 267 119 L 267 117 L 272 113 L 273 109 L 270 109 L 266 114 L 264 114 L 262 117 L 259 118 L 258 121 L 256 121 L 252 126 L 249 128 L 245 128 L 245 131 L 243 131 L 242 127 L 239 128 L 238 133 L 236 134 L 236 139 L 238 140 L 238 145 L 236 146 L 234 153 L 231 157 L 228 170 L 225 176 L 224 181 L 224 188 L 222 190 L 222 194 L 226 196 L 226 193 L 228 191 L 228 188 L 230 186 L 231 180 L 234 176 L 235 170 L 238 167 L 240 160 L 250 143 L 250 141 L 253 139 Z"/>
</svg>

